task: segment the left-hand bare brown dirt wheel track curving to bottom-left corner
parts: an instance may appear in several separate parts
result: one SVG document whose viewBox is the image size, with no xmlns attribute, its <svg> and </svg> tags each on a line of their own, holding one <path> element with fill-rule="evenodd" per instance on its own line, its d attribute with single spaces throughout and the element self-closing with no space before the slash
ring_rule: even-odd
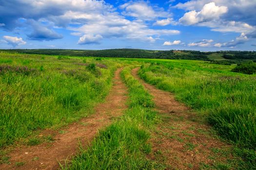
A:
<svg viewBox="0 0 256 170">
<path fill-rule="evenodd" d="M 53 130 L 46 130 L 42 135 L 53 135 L 52 143 L 37 146 L 17 148 L 11 152 L 10 164 L 0 165 L 0 170 L 56 170 L 59 163 L 77 152 L 78 139 L 88 144 L 98 133 L 98 129 L 106 127 L 113 118 L 122 114 L 126 108 L 127 88 L 120 78 L 119 68 L 114 77 L 114 86 L 106 98 L 106 102 L 96 106 L 96 113 L 69 125 L 63 134 Z"/>
</svg>

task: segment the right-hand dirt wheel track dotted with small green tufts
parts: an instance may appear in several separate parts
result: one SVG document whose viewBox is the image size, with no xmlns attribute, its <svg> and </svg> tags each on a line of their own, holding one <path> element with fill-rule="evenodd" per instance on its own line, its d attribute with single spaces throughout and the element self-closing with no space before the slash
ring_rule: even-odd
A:
<svg viewBox="0 0 256 170">
<path fill-rule="evenodd" d="M 161 117 L 151 142 L 153 152 L 148 155 L 167 165 L 170 170 L 224 169 L 232 156 L 225 152 L 229 145 L 221 142 L 211 132 L 211 127 L 198 121 L 198 116 L 174 95 L 149 85 L 138 77 L 138 68 L 132 70 L 154 97 Z M 224 168 L 223 168 L 224 167 Z"/>
</svg>

